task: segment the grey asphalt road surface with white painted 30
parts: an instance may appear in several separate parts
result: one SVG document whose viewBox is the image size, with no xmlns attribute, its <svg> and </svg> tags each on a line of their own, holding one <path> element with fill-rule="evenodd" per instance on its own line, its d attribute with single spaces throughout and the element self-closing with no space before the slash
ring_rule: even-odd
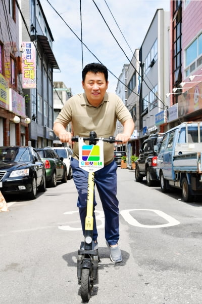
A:
<svg viewBox="0 0 202 304">
<path fill-rule="evenodd" d="M 99 280 L 91 304 L 201 304 L 202 203 L 134 181 L 118 168 L 120 248 L 114 264 L 97 198 Z M 82 303 L 76 256 L 83 241 L 73 180 L 0 213 L 1 304 Z"/>
</svg>

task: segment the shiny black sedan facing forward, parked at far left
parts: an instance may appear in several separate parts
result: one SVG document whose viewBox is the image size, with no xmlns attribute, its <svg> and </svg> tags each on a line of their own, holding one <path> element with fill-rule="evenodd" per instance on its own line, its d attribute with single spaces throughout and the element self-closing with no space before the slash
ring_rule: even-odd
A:
<svg viewBox="0 0 202 304">
<path fill-rule="evenodd" d="M 31 146 L 0 147 L 0 191 L 3 195 L 27 194 L 36 198 L 45 192 L 45 168 L 36 150 Z"/>
</svg>

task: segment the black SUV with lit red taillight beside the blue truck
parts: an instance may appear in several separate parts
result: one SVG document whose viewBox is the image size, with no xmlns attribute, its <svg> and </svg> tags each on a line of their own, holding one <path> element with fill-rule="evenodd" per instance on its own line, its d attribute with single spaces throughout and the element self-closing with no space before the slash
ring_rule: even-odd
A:
<svg viewBox="0 0 202 304">
<path fill-rule="evenodd" d="M 157 156 L 155 145 L 160 146 L 163 134 L 151 134 L 142 143 L 139 150 L 139 158 L 135 162 L 135 179 L 141 182 L 143 177 L 146 176 L 147 186 L 152 186 L 158 182 L 157 177 Z"/>
</svg>

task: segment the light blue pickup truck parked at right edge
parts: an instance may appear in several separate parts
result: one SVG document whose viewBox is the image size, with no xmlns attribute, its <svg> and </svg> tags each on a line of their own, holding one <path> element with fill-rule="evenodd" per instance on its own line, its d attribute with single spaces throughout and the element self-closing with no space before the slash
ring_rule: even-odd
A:
<svg viewBox="0 0 202 304">
<path fill-rule="evenodd" d="M 167 131 L 158 151 L 157 176 L 162 192 L 182 190 L 191 202 L 202 195 L 202 122 L 184 122 Z"/>
</svg>

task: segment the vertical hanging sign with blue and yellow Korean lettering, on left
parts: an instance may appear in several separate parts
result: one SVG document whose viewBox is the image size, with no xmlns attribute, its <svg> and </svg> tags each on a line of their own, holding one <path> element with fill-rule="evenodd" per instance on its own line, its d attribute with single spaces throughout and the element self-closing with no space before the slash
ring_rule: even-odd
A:
<svg viewBox="0 0 202 304">
<path fill-rule="evenodd" d="M 22 43 L 22 86 L 36 88 L 36 49 L 33 42 Z"/>
</svg>

